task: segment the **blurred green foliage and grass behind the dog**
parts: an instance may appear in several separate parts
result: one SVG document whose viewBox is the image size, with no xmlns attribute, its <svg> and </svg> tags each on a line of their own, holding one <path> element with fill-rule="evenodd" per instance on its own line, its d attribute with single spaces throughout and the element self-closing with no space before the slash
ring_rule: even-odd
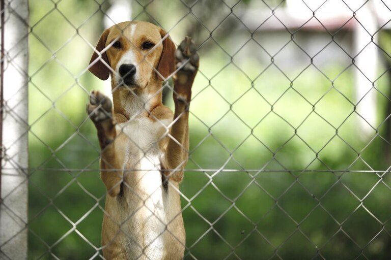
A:
<svg viewBox="0 0 391 260">
<path fill-rule="evenodd" d="M 154 1 L 145 10 L 134 3 L 133 14 L 153 17 L 179 43 L 197 23 L 199 5 L 182 20 L 188 9 L 180 1 Z M 105 188 L 85 107 L 89 91 L 109 89 L 86 68 L 107 7 L 30 1 L 29 259 L 100 258 Z M 203 22 L 213 29 L 219 21 L 212 18 Z M 387 259 L 391 178 L 382 172 L 389 161 L 382 138 L 388 121 L 381 122 L 389 100 L 376 92 L 378 127 L 363 137 L 353 67 L 332 63 L 302 72 L 308 62 L 285 76 L 249 55 L 252 49 L 240 54 L 250 36 L 219 28 L 224 24 L 209 40 L 208 30 L 194 32 L 198 43 L 207 41 L 199 51 L 181 184 L 185 258 Z M 389 94 L 386 75 L 375 86 Z M 357 172 L 366 170 L 379 172 Z"/>
</svg>

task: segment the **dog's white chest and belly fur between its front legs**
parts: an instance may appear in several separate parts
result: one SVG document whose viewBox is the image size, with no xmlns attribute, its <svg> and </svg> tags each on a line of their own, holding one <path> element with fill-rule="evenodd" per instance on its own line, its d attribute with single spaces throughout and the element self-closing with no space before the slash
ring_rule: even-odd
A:
<svg viewBox="0 0 391 260">
<path fill-rule="evenodd" d="M 138 118 L 116 127 L 117 133 L 127 137 L 123 146 L 124 182 L 127 185 L 123 199 L 127 207 L 124 207 L 126 212 L 120 215 L 131 216 L 122 220 L 123 228 L 128 229 L 128 250 L 134 252 L 141 246 L 145 248 L 147 258 L 161 259 L 164 252 L 162 234 L 167 217 L 163 202 L 166 194 L 160 173 L 162 152 L 158 142 L 166 132 L 166 126 L 149 118 Z M 137 237 L 141 234 L 143 239 Z M 139 242 L 136 241 L 143 241 L 144 245 L 137 245 Z"/>
</svg>

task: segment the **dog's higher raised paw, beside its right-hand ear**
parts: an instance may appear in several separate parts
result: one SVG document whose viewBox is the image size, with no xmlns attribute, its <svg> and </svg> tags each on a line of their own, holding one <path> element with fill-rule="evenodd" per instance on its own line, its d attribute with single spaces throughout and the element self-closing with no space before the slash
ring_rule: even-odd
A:
<svg viewBox="0 0 391 260">
<path fill-rule="evenodd" d="M 190 37 L 185 39 L 175 51 L 176 65 L 180 71 L 195 72 L 199 66 L 200 56 L 197 53 L 197 46 Z"/>
</svg>

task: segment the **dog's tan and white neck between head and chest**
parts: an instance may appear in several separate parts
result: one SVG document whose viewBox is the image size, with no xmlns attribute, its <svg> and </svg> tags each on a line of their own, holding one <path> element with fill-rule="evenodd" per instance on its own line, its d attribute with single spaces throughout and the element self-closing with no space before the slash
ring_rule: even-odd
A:
<svg viewBox="0 0 391 260">
<path fill-rule="evenodd" d="M 144 89 L 129 90 L 126 87 L 113 91 L 114 113 L 122 114 L 128 120 L 149 116 L 150 112 L 162 104 L 161 82 L 154 82 Z"/>
</svg>

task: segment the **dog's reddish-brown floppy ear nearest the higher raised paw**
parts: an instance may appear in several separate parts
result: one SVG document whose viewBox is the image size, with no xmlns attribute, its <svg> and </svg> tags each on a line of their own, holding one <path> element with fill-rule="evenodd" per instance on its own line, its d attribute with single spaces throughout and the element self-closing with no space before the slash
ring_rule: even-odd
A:
<svg viewBox="0 0 391 260">
<path fill-rule="evenodd" d="M 166 32 L 160 29 L 160 35 L 163 38 Z M 161 81 L 166 80 L 175 71 L 175 45 L 169 36 L 163 40 L 163 51 L 156 69 L 164 77 L 158 76 Z"/>
</svg>

